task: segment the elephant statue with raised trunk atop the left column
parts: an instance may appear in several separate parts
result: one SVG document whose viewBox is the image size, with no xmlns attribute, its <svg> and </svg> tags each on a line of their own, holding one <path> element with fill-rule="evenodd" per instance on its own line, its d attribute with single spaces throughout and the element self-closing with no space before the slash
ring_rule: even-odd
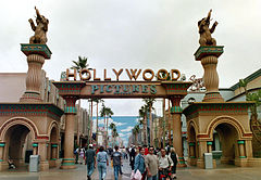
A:
<svg viewBox="0 0 261 180">
<path fill-rule="evenodd" d="M 35 35 L 30 37 L 29 39 L 29 43 L 42 43 L 46 44 L 47 42 L 47 37 L 46 37 L 46 33 L 48 30 L 48 24 L 49 21 L 48 18 L 46 18 L 44 15 L 40 15 L 39 10 L 36 9 L 36 24 L 37 26 L 35 26 L 35 23 L 33 22 L 33 20 L 28 20 L 30 23 L 30 27 L 32 29 L 35 31 Z"/>
</svg>

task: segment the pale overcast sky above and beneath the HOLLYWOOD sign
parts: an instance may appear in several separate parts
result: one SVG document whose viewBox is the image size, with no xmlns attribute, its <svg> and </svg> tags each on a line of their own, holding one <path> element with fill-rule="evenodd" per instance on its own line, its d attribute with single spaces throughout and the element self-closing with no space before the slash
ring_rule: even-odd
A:
<svg viewBox="0 0 261 180">
<path fill-rule="evenodd" d="M 27 72 L 20 43 L 34 35 L 28 18 L 34 7 L 49 18 L 50 79 L 72 66 L 78 55 L 102 76 L 112 68 L 177 68 L 187 78 L 202 77 L 194 53 L 197 22 L 212 9 L 212 35 L 225 46 L 219 59 L 220 88 L 228 88 L 260 68 L 260 0 L 8 0 L 0 1 L 0 72 Z M 107 100 L 115 115 L 137 115 L 140 100 Z M 123 106 L 127 106 L 124 110 Z M 159 110 L 160 111 L 160 110 Z"/>
</svg>

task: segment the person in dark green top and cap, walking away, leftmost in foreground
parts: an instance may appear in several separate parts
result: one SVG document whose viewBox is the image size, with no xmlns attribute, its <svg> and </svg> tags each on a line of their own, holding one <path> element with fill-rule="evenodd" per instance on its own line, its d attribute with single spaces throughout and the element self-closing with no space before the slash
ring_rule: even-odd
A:
<svg viewBox="0 0 261 180">
<path fill-rule="evenodd" d="M 87 179 L 91 180 L 91 175 L 96 167 L 96 152 L 92 144 L 89 144 L 89 149 L 86 151 L 86 165 L 87 165 Z"/>
</svg>

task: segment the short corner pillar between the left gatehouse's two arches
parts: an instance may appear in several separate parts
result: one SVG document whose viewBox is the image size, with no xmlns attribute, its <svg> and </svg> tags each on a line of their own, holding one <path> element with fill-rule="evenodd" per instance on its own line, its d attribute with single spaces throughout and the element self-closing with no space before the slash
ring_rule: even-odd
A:
<svg viewBox="0 0 261 180">
<path fill-rule="evenodd" d="M 38 142 L 38 154 L 40 155 L 40 170 L 48 170 L 49 163 L 47 160 L 47 141 Z"/>
</svg>

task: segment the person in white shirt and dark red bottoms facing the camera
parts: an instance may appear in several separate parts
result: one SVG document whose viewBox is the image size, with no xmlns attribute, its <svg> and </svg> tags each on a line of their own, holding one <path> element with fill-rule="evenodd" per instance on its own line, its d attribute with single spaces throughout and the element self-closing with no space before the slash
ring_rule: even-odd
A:
<svg viewBox="0 0 261 180">
<path fill-rule="evenodd" d="M 159 178 L 170 180 L 173 162 L 170 156 L 166 155 L 165 149 L 161 149 L 161 156 L 159 157 Z"/>
</svg>

